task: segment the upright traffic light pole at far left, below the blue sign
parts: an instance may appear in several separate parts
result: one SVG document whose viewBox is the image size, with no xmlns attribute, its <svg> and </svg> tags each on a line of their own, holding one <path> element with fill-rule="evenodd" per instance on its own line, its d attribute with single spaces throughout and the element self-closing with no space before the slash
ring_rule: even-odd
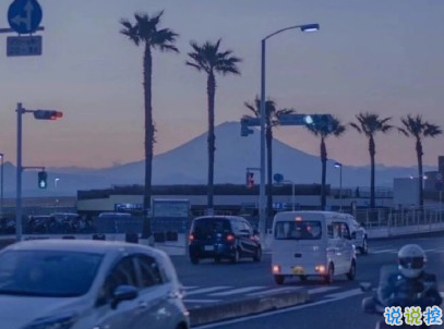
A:
<svg viewBox="0 0 444 329">
<path fill-rule="evenodd" d="M 17 168 L 16 168 L 16 202 L 15 202 L 15 239 L 22 241 L 22 103 L 17 103 Z"/>
</svg>

